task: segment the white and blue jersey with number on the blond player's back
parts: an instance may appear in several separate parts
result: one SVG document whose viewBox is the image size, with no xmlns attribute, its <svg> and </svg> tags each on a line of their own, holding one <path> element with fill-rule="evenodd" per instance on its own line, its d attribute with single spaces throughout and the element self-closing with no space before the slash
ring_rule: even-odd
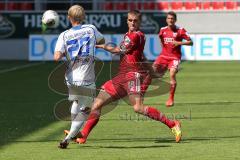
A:
<svg viewBox="0 0 240 160">
<path fill-rule="evenodd" d="M 65 79 L 68 85 L 95 83 L 95 45 L 103 35 L 94 25 L 78 25 L 62 32 L 57 40 L 55 52 L 65 54 L 69 61 Z"/>
</svg>

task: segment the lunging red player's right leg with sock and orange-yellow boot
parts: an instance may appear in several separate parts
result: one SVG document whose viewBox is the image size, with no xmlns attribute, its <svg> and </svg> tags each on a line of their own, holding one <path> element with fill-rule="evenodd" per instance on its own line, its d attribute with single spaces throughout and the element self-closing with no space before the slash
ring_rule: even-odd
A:
<svg viewBox="0 0 240 160">
<path fill-rule="evenodd" d="M 173 132 L 176 142 L 181 140 L 181 126 L 177 120 L 168 119 L 162 112 L 151 106 L 145 106 L 143 104 L 143 97 L 139 94 L 129 95 L 130 104 L 136 113 L 145 115 L 153 120 L 160 121 L 167 125 Z"/>
</svg>

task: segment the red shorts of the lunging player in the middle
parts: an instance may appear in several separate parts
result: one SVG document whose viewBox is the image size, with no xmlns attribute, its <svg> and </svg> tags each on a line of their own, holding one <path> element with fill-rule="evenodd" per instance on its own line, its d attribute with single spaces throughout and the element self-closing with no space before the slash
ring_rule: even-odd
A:
<svg viewBox="0 0 240 160">
<path fill-rule="evenodd" d="M 114 99 L 123 98 L 129 94 L 144 95 L 151 83 L 151 77 L 147 73 L 128 72 L 119 74 L 107 81 L 101 88 Z"/>
</svg>

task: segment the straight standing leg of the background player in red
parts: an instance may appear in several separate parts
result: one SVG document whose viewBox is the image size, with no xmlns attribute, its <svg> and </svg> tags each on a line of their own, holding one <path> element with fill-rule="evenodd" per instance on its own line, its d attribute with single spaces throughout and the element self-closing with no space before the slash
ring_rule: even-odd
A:
<svg viewBox="0 0 240 160">
<path fill-rule="evenodd" d="M 177 80 L 176 80 L 177 69 L 171 68 L 169 72 L 170 72 L 170 94 L 166 102 L 167 107 L 171 107 L 174 105 L 174 94 L 177 87 Z"/>
</svg>

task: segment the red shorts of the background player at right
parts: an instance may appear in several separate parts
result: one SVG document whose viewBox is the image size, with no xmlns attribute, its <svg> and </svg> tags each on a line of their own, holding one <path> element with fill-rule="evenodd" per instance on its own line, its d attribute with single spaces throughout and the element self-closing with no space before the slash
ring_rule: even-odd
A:
<svg viewBox="0 0 240 160">
<path fill-rule="evenodd" d="M 178 70 L 180 62 L 181 60 L 177 58 L 159 56 L 153 63 L 153 66 L 157 68 L 157 71 L 159 73 L 164 73 L 167 71 L 167 69 L 171 69 L 171 68 Z"/>
</svg>

